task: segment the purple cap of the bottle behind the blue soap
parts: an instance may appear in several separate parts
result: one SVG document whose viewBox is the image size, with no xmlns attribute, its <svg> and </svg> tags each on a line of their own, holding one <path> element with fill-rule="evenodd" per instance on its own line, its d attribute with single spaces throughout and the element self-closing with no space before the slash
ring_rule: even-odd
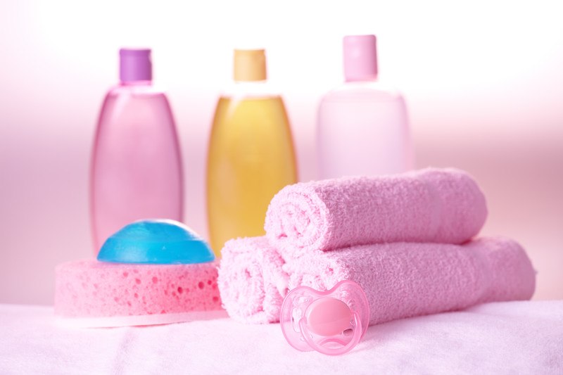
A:
<svg viewBox="0 0 563 375">
<path fill-rule="evenodd" d="M 119 78 L 121 82 L 153 80 L 151 49 L 120 49 Z"/>
</svg>

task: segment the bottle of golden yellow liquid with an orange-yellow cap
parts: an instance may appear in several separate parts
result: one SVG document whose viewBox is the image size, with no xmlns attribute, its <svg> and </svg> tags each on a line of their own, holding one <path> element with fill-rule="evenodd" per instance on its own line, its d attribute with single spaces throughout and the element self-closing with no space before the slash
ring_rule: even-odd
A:
<svg viewBox="0 0 563 375">
<path fill-rule="evenodd" d="M 210 243 L 264 234 L 267 206 L 297 182 L 291 129 L 284 102 L 267 93 L 264 50 L 234 51 L 232 93 L 215 110 L 207 165 Z"/>
</svg>

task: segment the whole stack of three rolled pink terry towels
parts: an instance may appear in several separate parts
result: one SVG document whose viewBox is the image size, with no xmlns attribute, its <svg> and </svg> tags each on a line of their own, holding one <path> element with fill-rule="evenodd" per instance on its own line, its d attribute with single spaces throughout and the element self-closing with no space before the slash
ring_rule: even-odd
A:
<svg viewBox="0 0 563 375">
<path fill-rule="evenodd" d="M 535 272 L 510 239 L 468 241 L 486 217 L 483 193 L 459 170 L 286 186 L 266 236 L 227 241 L 217 284 L 242 322 L 279 321 L 287 291 L 353 280 L 370 324 L 477 303 L 526 300 Z"/>
</svg>

